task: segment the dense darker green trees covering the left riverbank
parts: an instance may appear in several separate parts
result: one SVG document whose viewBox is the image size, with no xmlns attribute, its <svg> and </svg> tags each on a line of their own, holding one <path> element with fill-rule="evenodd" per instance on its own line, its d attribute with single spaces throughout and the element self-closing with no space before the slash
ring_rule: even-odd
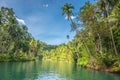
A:
<svg viewBox="0 0 120 80">
<path fill-rule="evenodd" d="M 45 43 L 36 41 L 12 9 L 0 9 L 0 61 L 34 60 Z"/>
</svg>

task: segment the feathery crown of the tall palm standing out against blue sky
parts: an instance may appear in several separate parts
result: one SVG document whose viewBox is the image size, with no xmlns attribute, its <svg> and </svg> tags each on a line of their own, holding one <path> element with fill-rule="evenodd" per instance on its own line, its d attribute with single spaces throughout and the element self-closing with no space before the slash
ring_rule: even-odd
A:
<svg viewBox="0 0 120 80">
<path fill-rule="evenodd" d="M 67 17 L 68 20 L 71 20 L 71 16 L 73 15 L 72 10 L 74 9 L 74 7 L 71 4 L 66 3 L 63 7 L 62 7 L 62 13 L 63 15 L 65 15 Z"/>
</svg>

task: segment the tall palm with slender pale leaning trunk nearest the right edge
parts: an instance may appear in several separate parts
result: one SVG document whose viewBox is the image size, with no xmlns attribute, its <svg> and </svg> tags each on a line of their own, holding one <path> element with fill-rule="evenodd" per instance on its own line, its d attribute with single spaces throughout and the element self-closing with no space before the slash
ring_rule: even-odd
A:
<svg viewBox="0 0 120 80">
<path fill-rule="evenodd" d="M 117 4 L 120 3 L 120 1 L 119 0 L 99 0 L 98 3 L 100 3 L 99 7 L 101 10 L 101 14 L 103 14 L 104 18 L 109 18 L 109 16 L 112 14 L 112 10 L 114 9 L 114 7 Z M 115 55 L 118 55 L 116 45 L 115 45 L 114 35 L 113 35 L 113 31 L 112 31 L 112 26 L 110 26 L 110 23 L 108 20 L 106 22 L 106 26 L 109 27 L 110 36 L 111 36 L 113 48 L 115 51 Z"/>
</svg>

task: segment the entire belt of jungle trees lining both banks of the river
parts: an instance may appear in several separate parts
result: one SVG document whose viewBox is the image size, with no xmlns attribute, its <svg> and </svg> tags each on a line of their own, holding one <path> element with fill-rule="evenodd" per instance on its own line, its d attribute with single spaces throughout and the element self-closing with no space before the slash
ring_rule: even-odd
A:
<svg viewBox="0 0 120 80">
<path fill-rule="evenodd" d="M 27 26 L 19 23 L 12 9 L 1 7 L 0 62 L 40 58 L 120 73 L 120 1 L 88 1 L 78 14 L 73 13 L 73 9 L 74 6 L 68 3 L 62 7 L 63 15 L 71 22 L 71 31 L 76 35 L 72 41 L 55 46 L 35 40 Z"/>
</svg>

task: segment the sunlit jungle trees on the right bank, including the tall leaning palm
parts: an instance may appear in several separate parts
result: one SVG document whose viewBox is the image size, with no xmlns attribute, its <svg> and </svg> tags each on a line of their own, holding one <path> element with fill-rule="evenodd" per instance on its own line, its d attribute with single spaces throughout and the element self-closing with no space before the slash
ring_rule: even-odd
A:
<svg viewBox="0 0 120 80">
<path fill-rule="evenodd" d="M 120 71 L 120 1 L 98 0 L 94 4 L 88 1 L 77 15 L 71 4 L 62 9 L 76 36 L 72 42 L 46 51 L 44 58 L 74 60 L 81 66 Z"/>
</svg>

